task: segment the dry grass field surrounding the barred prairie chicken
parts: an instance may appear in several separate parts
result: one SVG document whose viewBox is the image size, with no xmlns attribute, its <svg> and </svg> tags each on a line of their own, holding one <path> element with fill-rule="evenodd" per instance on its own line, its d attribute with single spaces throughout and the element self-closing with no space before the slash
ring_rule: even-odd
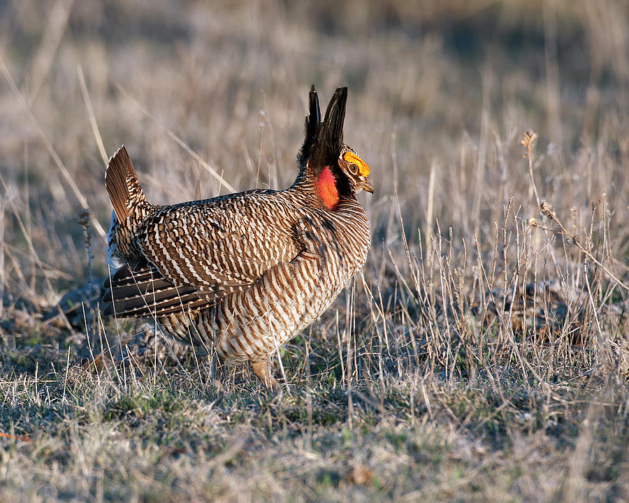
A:
<svg viewBox="0 0 629 503">
<path fill-rule="evenodd" d="M 15 0 L 0 57 L 1 501 L 629 500 L 628 3 Z M 287 187 L 312 83 L 373 247 L 282 391 L 99 316 L 108 156 Z"/>
</svg>

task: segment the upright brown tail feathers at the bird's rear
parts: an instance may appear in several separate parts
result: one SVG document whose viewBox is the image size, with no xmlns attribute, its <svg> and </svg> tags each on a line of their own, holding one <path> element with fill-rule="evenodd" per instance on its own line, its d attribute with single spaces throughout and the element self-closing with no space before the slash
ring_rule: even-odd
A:
<svg viewBox="0 0 629 503">
<path fill-rule="evenodd" d="M 109 159 L 105 187 L 120 222 L 129 217 L 134 208 L 147 204 L 138 175 L 124 145 Z"/>
</svg>

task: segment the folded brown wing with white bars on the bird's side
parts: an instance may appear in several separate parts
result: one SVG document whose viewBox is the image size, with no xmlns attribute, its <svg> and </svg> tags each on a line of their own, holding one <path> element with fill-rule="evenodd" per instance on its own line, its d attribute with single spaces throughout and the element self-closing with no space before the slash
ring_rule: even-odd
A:
<svg viewBox="0 0 629 503">
<path fill-rule="evenodd" d="M 106 284 L 105 314 L 161 316 L 249 288 L 300 252 L 282 210 L 273 194 L 251 191 L 152 214 L 136 234 L 145 260 Z"/>
</svg>

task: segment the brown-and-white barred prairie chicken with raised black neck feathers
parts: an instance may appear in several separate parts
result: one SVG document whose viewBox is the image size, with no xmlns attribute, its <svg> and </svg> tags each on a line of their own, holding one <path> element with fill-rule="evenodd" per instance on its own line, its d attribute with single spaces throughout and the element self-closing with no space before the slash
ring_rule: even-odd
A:
<svg viewBox="0 0 629 503">
<path fill-rule="evenodd" d="M 321 122 L 310 90 L 299 173 L 256 189 L 172 206 L 148 203 L 124 147 L 105 177 L 113 205 L 105 314 L 153 317 L 162 330 L 224 363 L 249 362 L 277 388 L 270 358 L 323 313 L 359 271 L 373 194 L 368 165 L 342 140 L 347 88 Z"/>
</svg>

